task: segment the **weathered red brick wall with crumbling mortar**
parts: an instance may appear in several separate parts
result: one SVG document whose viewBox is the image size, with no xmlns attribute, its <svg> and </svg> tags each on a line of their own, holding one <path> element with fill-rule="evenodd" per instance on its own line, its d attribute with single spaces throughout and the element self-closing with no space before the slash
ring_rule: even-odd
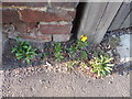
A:
<svg viewBox="0 0 132 99">
<path fill-rule="evenodd" d="M 77 2 L 3 2 L 3 33 L 41 42 L 70 38 Z"/>
</svg>

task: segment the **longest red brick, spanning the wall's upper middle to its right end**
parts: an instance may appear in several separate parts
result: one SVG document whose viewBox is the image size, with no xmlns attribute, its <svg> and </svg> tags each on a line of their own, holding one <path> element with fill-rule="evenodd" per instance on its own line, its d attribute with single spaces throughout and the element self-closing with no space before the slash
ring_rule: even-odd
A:
<svg viewBox="0 0 132 99">
<path fill-rule="evenodd" d="M 64 10 L 57 11 L 34 11 L 34 10 L 20 10 L 21 20 L 23 22 L 52 22 L 52 21 L 73 21 L 73 15 Z"/>
</svg>

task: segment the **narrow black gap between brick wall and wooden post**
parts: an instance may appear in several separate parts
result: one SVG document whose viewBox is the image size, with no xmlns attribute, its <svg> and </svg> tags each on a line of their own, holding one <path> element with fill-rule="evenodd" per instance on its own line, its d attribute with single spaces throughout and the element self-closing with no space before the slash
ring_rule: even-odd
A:
<svg viewBox="0 0 132 99">
<path fill-rule="evenodd" d="M 77 38 L 77 33 L 78 33 L 78 30 L 79 30 L 79 26 L 80 26 L 80 22 L 81 22 L 81 19 L 82 19 L 85 7 L 86 7 L 86 2 L 79 2 L 79 4 L 77 6 L 76 16 L 75 16 L 75 20 L 73 22 L 72 40 Z"/>
</svg>

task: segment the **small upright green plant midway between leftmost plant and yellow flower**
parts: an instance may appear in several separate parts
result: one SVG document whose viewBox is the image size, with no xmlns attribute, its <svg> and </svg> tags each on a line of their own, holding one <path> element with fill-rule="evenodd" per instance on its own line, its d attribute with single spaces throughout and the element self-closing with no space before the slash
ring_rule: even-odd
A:
<svg viewBox="0 0 132 99">
<path fill-rule="evenodd" d="M 64 58 L 61 43 L 55 43 L 55 58 L 56 61 L 62 61 Z"/>
</svg>

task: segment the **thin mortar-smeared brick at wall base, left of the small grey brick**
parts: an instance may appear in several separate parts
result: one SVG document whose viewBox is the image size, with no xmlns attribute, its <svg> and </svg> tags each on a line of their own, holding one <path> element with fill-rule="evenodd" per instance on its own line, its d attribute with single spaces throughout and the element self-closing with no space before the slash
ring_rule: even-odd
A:
<svg viewBox="0 0 132 99">
<path fill-rule="evenodd" d="M 28 33 L 24 33 L 24 34 L 21 33 L 19 36 L 24 40 L 35 40 L 35 41 L 41 41 L 41 42 L 52 41 L 52 35 L 44 35 L 44 34 L 33 35 L 33 34 L 28 34 Z"/>
</svg>

